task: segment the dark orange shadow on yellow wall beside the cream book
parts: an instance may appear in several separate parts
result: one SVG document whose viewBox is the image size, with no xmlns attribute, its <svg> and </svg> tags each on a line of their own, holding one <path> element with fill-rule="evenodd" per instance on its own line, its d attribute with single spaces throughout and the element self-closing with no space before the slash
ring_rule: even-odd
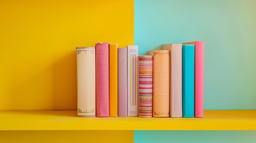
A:
<svg viewBox="0 0 256 143">
<path fill-rule="evenodd" d="M 76 50 L 52 66 L 53 109 L 76 110 Z"/>
</svg>

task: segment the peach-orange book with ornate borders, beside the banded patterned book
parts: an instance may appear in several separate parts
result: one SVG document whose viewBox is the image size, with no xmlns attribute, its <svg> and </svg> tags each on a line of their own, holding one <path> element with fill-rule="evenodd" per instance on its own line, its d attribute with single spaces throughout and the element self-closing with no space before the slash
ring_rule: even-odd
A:
<svg viewBox="0 0 256 143">
<path fill-rule="evenodd" d="M 169 117 L 170 52 L 154 50 L 148 55 L 153 55 L 153 117 Z"/>
</svg>

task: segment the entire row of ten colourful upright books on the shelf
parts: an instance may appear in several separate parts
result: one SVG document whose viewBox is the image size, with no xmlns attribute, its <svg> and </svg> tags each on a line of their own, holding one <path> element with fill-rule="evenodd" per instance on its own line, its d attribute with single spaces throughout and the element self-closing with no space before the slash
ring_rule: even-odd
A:
<svg viewBox="0 0 256 143">
<path fill-rule="evenodd" d="M 78 117 L 203 117 L 204 42 L 76 50 Z"/>
</svg>

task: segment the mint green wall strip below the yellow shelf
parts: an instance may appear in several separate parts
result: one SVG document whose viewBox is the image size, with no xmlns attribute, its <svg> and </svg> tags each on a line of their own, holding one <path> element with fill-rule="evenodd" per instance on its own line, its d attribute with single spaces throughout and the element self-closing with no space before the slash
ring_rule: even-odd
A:
<svg viewBox="0 0 256 143">
<path fill-rule="evenodd" d="M 256 131 L 135 131 L 135 143 L 256 143 Z"/>
</svg>

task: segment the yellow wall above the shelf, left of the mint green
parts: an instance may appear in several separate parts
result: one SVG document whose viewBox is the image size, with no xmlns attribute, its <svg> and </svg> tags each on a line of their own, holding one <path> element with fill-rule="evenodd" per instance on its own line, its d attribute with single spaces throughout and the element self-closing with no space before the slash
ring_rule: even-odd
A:
<svg viewBox="0 0 256 143">
<path fill-rule="evenodd" d="M 133 0 L 0 0 L 0 110 L 75 110 L 76 46 L 133 44 Z"/>
</svg>

